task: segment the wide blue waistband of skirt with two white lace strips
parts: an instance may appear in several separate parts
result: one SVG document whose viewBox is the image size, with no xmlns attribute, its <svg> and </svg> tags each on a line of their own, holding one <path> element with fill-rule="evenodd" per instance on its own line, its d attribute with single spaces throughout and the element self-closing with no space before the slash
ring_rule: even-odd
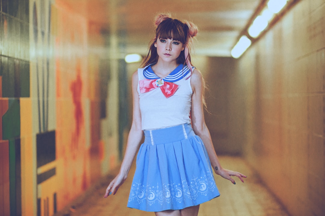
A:
<svg viewBox="0 0 325 216">
<path fill-rule="evenodd" d="M 143 144 L 159 145 L 188 139 L 195 133 L 190 124 L 181 124 L 168 128 L 144 131 L 145 140 Z"/>
</svg>

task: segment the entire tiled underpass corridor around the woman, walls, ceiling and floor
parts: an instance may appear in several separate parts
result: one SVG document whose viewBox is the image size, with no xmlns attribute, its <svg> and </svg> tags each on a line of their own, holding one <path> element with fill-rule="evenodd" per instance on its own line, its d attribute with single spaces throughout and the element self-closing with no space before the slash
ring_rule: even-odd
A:
<svg viewBox="0 0 325 216">
<path fill-rule="evenodd" d="M 132 174 L 103 195 L 159 13 L 198 26 L 213 147 L 248 176 L 216 176 L 200 215 L 324 216 L 325 0 L 0 0 L 0 216 L 152 215 L 126 207 Z"/>
</svg>

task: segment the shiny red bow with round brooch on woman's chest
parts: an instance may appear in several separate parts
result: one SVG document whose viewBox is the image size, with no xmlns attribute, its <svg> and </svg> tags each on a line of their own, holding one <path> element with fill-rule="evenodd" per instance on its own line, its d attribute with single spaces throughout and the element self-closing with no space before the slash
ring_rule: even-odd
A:
<svg viewBox="0 0 325 216">
<path fill-rule="evenodd" d="M 162 94 L 165 97 L 170 97 L 176 92 L 178 85 L 170 82 L 165 82 L 163 79 L 149 80 L 143 79 L 139 81 L 140 93 L 149 92 L 155 88 L 160 87 Z"/>
</svg>

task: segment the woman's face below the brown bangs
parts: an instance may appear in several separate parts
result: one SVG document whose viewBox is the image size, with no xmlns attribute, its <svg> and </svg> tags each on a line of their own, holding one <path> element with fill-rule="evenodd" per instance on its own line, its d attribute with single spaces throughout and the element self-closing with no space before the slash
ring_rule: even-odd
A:
<svg viewBox="0 0 325 216">
<path fill-rule="evenodd" d="M 185 45 L 178 40 L 162 38 L 158 38 L 154 46 L 157 48 L 159 58 L 166 62 L 176 61 L 181 51 L 185 48 Z"/>
</svg>

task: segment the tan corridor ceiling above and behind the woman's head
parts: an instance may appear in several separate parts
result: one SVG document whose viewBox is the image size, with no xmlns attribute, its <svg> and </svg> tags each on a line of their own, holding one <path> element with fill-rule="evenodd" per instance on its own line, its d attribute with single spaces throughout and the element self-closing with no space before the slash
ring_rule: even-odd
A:
<svg viewBox="0 0 325 216">
<path fill-rule="evenodd" d="M 195 54 L 204 56 L 230 56 L 240 32 L 260 3 L 260 0 L 64 1 L 109 31 L 114 27 L 126 30 L 127 53 L 147 53 L 149 41 L 154 37 L 153 19 L 158 13 L 187 19 L 199 28 Z M 118 19 L 114 20 L 114 16 Z"/>
</svg>

